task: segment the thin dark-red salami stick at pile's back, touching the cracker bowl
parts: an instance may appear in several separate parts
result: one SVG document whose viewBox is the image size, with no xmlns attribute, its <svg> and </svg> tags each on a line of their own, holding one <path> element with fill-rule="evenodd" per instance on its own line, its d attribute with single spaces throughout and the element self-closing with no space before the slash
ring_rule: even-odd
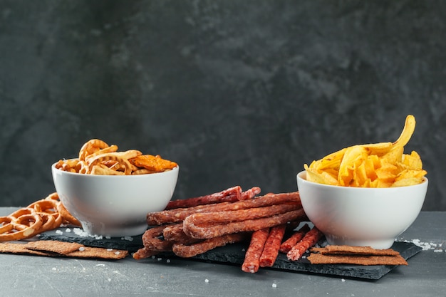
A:
<svg viewBox="0 0 446 297">
<path fill-rule="evenodd" d="M 195 198 L 172 200 L 167 204 L 165 209 L 177 209 L 186 207 L 196 207 L 197 205 L 213 204 L 218 202 L 234 202 L 240 200 L 242 197 L 242 187 L 235 186 L 229 189 L 224 189 L 221 192 L 204 195 Z"/>
</svg>

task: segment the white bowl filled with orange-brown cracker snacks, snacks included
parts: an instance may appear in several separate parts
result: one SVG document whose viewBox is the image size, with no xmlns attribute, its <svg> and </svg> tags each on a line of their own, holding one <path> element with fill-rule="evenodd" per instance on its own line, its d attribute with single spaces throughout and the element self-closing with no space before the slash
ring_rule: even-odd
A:
<svg viewBox="0 0 446 297">
<path fill-rule="evenodd" d="M 102 140 L 85 142 L 79 157 L 51 166 L 58 197 L 83 230 L 112 237 L 144 233 L 147 213 L 170 202 L 179 170 L 159 155 L 118 152 Z"/>
</svg>

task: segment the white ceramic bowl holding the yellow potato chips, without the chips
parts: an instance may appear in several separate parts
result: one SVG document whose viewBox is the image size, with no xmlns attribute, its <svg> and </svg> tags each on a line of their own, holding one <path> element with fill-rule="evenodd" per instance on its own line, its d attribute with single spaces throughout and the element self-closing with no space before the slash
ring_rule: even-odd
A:
<svg viewBox="0 0 446 297">
<path fill-rule="evenodd" d="M 308 182 L 297 174 L 302 207 L 328 244 L 388 249 L 420 213 L 427 178 L 408 187 L 358 188 Z"/>
</svg>

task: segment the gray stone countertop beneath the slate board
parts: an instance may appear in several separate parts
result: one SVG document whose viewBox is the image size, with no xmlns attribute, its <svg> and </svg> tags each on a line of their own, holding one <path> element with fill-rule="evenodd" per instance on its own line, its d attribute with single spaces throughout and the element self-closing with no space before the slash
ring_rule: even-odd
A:
<svg viewBox="0 0 446 297">
<path fill-rule="evenodd" d="M 0 208 L 0 216 L 11 213 Z M 421 212 L 398 241 L 422 251 L 370 281 L 185 259 L 120 261 L 0 254 L 0 296 L 445 296 L 446 212 Z"/>
</svg>

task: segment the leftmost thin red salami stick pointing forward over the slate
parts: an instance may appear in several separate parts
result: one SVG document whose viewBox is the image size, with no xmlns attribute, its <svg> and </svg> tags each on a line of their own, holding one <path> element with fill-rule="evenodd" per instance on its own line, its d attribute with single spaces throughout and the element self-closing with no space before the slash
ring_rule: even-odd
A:
<svg viewBox="0 0 446 297">
<path fill-rule="evenodd" d="M 268 234 L 269 228 L 260 229 L 252 233 L 249 247 L 244 255 L 242 271 L 248 273 L 256 273 L 259 271 L 260 256 L 264 250 Z"/>
</svg>

